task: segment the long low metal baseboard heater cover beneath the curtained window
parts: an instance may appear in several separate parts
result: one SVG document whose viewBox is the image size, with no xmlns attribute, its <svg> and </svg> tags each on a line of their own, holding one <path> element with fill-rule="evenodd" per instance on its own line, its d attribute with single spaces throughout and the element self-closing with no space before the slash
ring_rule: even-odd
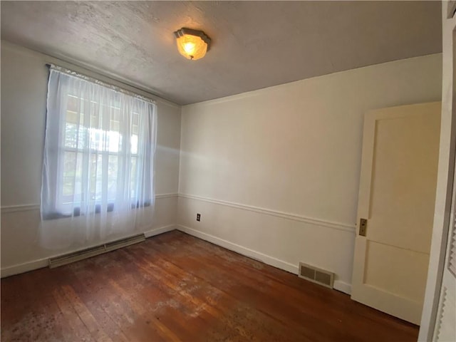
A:
<svg viewBox="0 0 456 342">
<path fill-rule="evenodd" d="M 49 268 L 53 269 L 54 267 L 63 266 L 66 264 L 71 264 L 75 261 L 80 261 L 90 257 L 95 257 L 95 255 L 103 254 L 106 252 L 113 251 L 122 247 L 130 246 L 131 244 L 138 244 L 138 242 L 145 241 L 144 234 L 134 235 L 133 237 L 126 237 L 125 239 L 118 239 L 113 242 L 108 242 L 106 244 L 100 244 L 95 247 L 90 247 L 86 249 L 81 249 L 77 252 L 63 254 L 58 257 L 53 257 L 49 259 Z"/>
</svg>

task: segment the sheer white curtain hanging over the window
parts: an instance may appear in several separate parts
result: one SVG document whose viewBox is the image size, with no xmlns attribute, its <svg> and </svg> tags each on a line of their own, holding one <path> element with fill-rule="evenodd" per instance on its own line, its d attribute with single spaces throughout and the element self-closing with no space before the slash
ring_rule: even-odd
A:
<svg viewBox="0 0 456 342">
<path fill-rule="evenodd" d="M 135 232 L 154 204 L 157 107 L 50 67 L 41 188 L 41 243 L 88 246 Z"/>
</svg>

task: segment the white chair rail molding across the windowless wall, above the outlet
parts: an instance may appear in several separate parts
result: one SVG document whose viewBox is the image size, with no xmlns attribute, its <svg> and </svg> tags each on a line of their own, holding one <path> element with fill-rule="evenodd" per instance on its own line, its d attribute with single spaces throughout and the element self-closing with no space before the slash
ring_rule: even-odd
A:
<svg viewBox="0 0 456 342">
<path fill-rule="evenodd" d="M 271 210 L 271 209 L 265 209 L 265 208 L 261 208 L 261 207 L 254 207 L 252 205 L 227 202 L 227 201 L 222 201 L 219 199 L 212 199 L 212 198 L 208 198 L 208 197 L 200 197 L 200 196 L 186 195 L 186 194 L 179 194 L 179 197 L 187 198 L 187 199 L 196 199 L 196 200 L 202 201 L 202 202 L 224 205 L 224 206 L 232 207 L 232 208 L 236 208 L 236 209 L 247 210 L 249 212 L 257 212 L 259 214 L 266 214 L 266 215 L 270 215 L 270 216 L 281 217 L 282 219 L 291 219 L 293 221 L 305 222 L 305 223 L 314 224 L 314 225 L 320 226 L 320 227 L 327 227 L 327 228 L 331 228 L 331 229 L 341 230 L 343 232 L 348 232 L 351 234 L 355 234 L 355 232 L 356 232 L 356 226 L 354 226 L 353 224 L 332 222 L 332 221 L 328 221 L 326 219 L 315 219 L 313 217 L 305 217 L 305 216 L 298 215 L 298 214 L 290 214 L 288 212 L 279 212 L 278 210 Z"/>
</svg>

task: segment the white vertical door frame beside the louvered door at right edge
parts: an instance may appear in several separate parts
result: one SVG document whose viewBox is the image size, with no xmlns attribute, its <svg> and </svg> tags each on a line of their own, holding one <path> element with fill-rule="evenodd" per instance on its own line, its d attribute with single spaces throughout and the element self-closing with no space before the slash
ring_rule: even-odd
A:
<svg viewBox="0 0 456 342">
<path fill-rule="evenodd" d="M 456 1 L 442 0 L 442 118 L 434 224 L 418 341 L 432 341 L 442 286 L 456 156 Z"/>
</svg>

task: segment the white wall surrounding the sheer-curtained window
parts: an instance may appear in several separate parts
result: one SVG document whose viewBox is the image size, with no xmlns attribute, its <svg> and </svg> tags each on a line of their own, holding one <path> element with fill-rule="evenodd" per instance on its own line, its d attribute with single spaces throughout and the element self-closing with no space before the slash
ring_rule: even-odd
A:
<svg viewBox="0 0 456 342">
<path fill-rule="evenodd" d="M 66 249 L 46 249 L 36 242 L 46 120 L 46 63 L 66 66 L 133 90 L 56 58 L 1 41 L 2 276 L 45 265 L 47 257 L 68 252 Z M 154 98 L 158 107 L 157 202 L 155 211 L 145 209 L 137 222 L 140 231 L 153 234 L 173 229 L 176 223 L 181 108 L 135 91 Z M 65 219 L 62 219 L 61 228 L 65 225 Z"/>
</svg>

